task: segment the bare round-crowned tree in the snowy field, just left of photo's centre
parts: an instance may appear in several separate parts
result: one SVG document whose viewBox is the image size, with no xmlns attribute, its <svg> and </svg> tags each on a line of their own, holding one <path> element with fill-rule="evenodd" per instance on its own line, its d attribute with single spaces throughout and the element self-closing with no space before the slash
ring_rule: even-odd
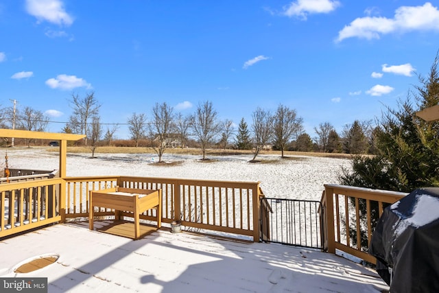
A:
<svg viewBox="0 0 439 293">
<path fill-rule="evenodd" d="M 213 109 L 212 102 L 206 101 L 198 104 L 197 112 L 191 119 L 193 133 L 200 141 L 203 160 L 206 159 L 206 148 L 217 136 L 221 125 L 217 121 L 217 111 Z"/>
</svg>

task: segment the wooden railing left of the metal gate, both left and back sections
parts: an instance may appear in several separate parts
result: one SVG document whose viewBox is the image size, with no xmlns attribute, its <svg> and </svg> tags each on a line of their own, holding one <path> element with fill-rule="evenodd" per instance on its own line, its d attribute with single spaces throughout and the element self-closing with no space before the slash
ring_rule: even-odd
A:
<svg viewBox="0 0 439 293">
<path fill-rule="evenodd" d="M 0 185 L 0 237 L 54 222 L 88 218 L 90 191 L 116 185 L 162 189 L 164 223 L 182 220 L 189 229 L 245 235 L 259 241 L 263 194 L 258 182 L 129 176 L 52 178 Z M 147 211 L 141 219 L 154 221 L 155 213 Z M 94 215 L 114 215 L 114 211 L 101 208 Z M 130 213 L 122 215 L 130 217 Z"/>
</svg>

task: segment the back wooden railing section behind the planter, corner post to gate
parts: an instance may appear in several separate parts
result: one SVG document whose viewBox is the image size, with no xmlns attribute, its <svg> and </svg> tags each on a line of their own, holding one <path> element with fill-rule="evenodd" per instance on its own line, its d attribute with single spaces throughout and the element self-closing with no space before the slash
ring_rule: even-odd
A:
<svg viewBox="0 0 439 293">
<path fill-rule="evenodd" d="M 221 231 L 253 237 L 259 241 L 258 182 L 187 180 L 155 177 L 103 176 L 68 177 L 65 218 L 88 217 L 89 191 L 120 186 L 137 189 L 162 189 L 162 222 L 181 220 L 196 230 Z M 156 218 L 156 211 L 141 215 L 143 220 Z M 99 209 L 95 216 L 113 215 Z M 122 215 L 130 216 L 129 213 Z M 257 227 L 257 228 L 254 228 Z"/>
</svg>

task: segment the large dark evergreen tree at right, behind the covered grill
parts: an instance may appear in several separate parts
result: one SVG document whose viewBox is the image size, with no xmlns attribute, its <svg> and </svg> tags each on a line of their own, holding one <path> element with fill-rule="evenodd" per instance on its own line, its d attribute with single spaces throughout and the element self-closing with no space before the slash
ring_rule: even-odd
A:
<svg viewBox="0 0 439 293">
<path fill-rule="evenodd" d="M 439 102 L 438 61 L 436 54 L 427 78 L 419 77 L 418 93 L 410 92 L 396 109 L 387 108 L 374 130 L 377 156 L 358 157 L 353 171 L 340 176 L 342 184 L 405 192 L 439 186 L 439 122 L 416 117 L 418 110 Z"/>
</svg>

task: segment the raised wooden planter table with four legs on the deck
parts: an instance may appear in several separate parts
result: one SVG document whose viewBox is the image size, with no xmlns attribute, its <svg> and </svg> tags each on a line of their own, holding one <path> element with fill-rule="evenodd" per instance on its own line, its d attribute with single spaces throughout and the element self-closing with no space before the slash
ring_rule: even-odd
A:
<svg viewBox="0 0 439 293">
<path fill-rule="evenodd" d="M 132 189 L 113 187 L 98 191 L 90 191 L 90 209 L 88 227 L 93 230 L 95 207 L 115 209 L 115 220 L 120 218 L 121 211 L 130 211 L 134 218 L 134 239 L 140 237 L 139 215 L 149 209 L 156 209 L 157 227 L 162 222 L 162 191 L 161 189 Z"/>
</svg>

